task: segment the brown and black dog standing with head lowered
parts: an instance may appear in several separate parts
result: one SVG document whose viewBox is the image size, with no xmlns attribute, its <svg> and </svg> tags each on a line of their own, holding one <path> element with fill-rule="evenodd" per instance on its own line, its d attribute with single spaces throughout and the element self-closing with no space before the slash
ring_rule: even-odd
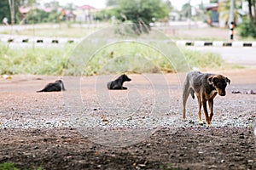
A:
<svg viewBox="0 0 256 170">
<path fill-rule="evenodd" d="M 201 105 L 203 105 L 207 127 L 210 127 L 213 116 L 213 99 L 217 94 L 221 96 L 226 95 L 225 88 L 227 82 L 230 84 L 230 79 L 222 75 L 201 73 L 200 71 L 189 72 L 183 87 L 183 121 L 186 120 L 186 103 L 189 94 L 191 94 L 193 99 L 195 99 L 194 94 L 196 94 L 199 105 L 199 123 L 201 125 L 203 124 L 201 121 Z M 207 101 L 210 109 L 210 116 L 208 116 Z"/>
</svg>

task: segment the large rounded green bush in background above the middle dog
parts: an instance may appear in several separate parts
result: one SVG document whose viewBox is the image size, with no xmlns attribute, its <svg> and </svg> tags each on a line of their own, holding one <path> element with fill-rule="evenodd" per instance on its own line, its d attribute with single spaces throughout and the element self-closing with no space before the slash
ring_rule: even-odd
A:
<svg viewBox="0 0 256 170">
<path fill-rule="evenodd" d="M 119 0 L 117 19 L 149 26 L 155 20 L 169 16 L 170 8 L 161 0 Z"/>
</svg>

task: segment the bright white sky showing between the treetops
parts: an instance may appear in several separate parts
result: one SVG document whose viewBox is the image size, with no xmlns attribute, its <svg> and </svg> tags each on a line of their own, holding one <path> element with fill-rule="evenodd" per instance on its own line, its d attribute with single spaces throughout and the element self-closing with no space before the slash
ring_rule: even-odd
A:
<svg viewBox="0 0 256 170">
<path fill-rule="evenodd" d="M 39 2 L 47 3 L 52 0 L 40 0 Z M 107 0 L 57 0 L 61 5 L 65 5 L 67 3 L 74 3 L 75 5 L 82 6 L 82 5 L 90 5 L 95 8 L 104 8 L 106 6 Z M 190 4 L 192 6 L 196 4 L 200 4 L 201 1 L 203 3 L 209 3 L 210 0 L 190 0 Z M 184 3 L 188 3 L 189 0 L 171 0 L 172 6 L 177 9 L 181 9 Z"/>
</svg>

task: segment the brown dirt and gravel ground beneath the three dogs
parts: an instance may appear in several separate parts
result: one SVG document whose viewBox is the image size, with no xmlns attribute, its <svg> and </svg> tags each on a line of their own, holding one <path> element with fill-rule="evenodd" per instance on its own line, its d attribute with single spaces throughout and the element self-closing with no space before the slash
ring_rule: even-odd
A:
<svg viewBox="0 0 256 170">
<path fill-rule="evenodd" d="M 125 83 L 129 89 L 111 94 L 111 99 L 114 95 L 122 96 L 129 92 L 136 99 L 136 94 L 146 96 L 145 99 L 141 98 L 141 106 L 134 114 L 119 116 L 119 119 L 125 120 L 128 117 L 127 122 L 135 121 L 132 125 L 134 127 L 131 124 L 114 124 L 114 116 L 108 116 L 107 113 L 102 117 L 103 111 L 96 105 L 98 101 L 94 92 L 97 87 L 95 83 L 99 79 L 83 77 L 81 87 L 84 88 L 80 92 L 86 92 L 85 97 L 82 96 L 86 103 L 84 111 L 91 119 L 98 121 L 98 127 L 105 132 L 114 127 L 119 133 L 125 133 L 128 128 L 134 129 L 135 133 L 139 132 L 137 122 L 154 122 L 151 119 L 154 116 L 147 112 L 152 105 L 150 93 L 154 91 L 156 94 L 161 90 L 165 92 L 166 89 L 171 92 L 168 103 L 170 106 L 167 107 L 170 111 L 160 111 L 164 115 L 162 120 L 165 123 L 156 123 L 154 131 L 150 131 L 140 140 L 137 140 L 140 133 L 129 136 L 131 143 L 125 145 L 119 145 L 119 140 L 114 140 L 114 134 L 107 136 L 108 138 L 95 134 L 93 138 L 94 131 L 91 132 L 92 135 L 84 135 L 68 123 L 74 120 L 73 116 L 79 115 L 74 108 L 67 109 L 66 94 L 75 94 L 78 89 L 67 84 L 67 91 L 63 93 L 36 93 L 46 83 L 60 77 L 14 76 L 11 80 L 2 77 L 0 162 L 15 162 L 20 169 L 256 169 L 256 144 L 253 134 L 256 95 L 246 94 L 249 90 L 256 91 L 256 69 L 214 72 L 229 77 L 231 83 L 227 87 L 226 96 L 217 96 L 214 99 L 215 115 L 210 128 L 197 124 L 197 102 L 192 99 L 189 99 L 187 106 L 188 121 L 181 121 L 180 83 L 183 79 L 179 80 L 180 77 L 175 74 L 165 75 L 166 84 L 158 84 L 154 90 L 145 88 L 150 84 L 150 81 L 147 82 L 150 76 L 143 78 L 142 75 L 129 75 L 132 81 Z M 65 82 L 65 78 L 63 80 Z M 133 88 L 137 91 L 132 91 Z M 96 89 L 100 90 L 101 87 Z M 234 91 L 241 93 L 232 94 Z M 166 106 L 166 99 L 159 99 L 160 103 L 155 106 Z M 126 104 L 120 105 L 125 107 Z M 101 121 L 105 124 L 101 124 Z M 102 142 L 101 139 L 109 139 L 110 144 Z"/>
</svg>

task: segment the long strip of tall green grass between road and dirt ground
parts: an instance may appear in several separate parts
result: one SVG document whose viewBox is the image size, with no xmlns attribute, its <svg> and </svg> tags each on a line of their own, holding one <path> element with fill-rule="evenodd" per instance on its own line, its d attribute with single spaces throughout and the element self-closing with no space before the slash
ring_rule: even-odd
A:
<svg viewBox="0 0 256 170">
<path fill-rule="evenodd" d="M 0 74 L 34 74 L 34 75 L 61 75 L 64 70 L 67 75 L 76 75 L 82 71 L 84 75 L 117 73 L 128 71 L 134 73 L 142 72 L 175 72 L 177 56 L 172 54 L 169 60 L 160 52 L 147 46 L 134 44 L 113 44 L 102 48 L 90 61 L 82 63 L 82 68 L 76 65 L 67 65 L 74 50 L 72 44 L 65 48 L 7 48 L 0 44 Z M 84 51 L 79 52 L 83 56 Z M 177 52 L 178 54 L 181 54 Z M 224 61 L 218 54 L 202 53 L 182 49 L 183 63 L 190 68 L 218 69 L 224 66 Z M 80 62 L 80 61 L 79 61 Z M 84 62 L 84 61 L 83 61 Z M 66 68 L 66 69 L 65 69 Z"/>
</svg>

